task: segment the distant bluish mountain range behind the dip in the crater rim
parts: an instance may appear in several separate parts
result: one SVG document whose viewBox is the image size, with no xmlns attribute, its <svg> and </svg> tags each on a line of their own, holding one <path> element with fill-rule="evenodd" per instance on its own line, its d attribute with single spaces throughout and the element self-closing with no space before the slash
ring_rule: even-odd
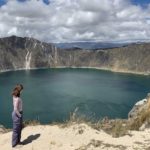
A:
<svg viewBox="0 0 150 150">
<path fill-rule="evenodd" d="M 128 43 L 109 43 L 109 42 L 71 42 L 71 43 L 53 43 L 58 48 L 81 48 L 81 49 L 108 49 L 122 47 Z"/>
</svg>

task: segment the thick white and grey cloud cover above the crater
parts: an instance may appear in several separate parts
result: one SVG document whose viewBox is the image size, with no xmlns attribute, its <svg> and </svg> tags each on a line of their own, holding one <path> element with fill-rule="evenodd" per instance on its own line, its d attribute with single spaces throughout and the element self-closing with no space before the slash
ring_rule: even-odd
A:
<svg viewBox="0 0 150 150">
<path fill-rule="evenodd" d="M 0 37 L 46 42 L 149 40 L 150 6 L 129 0 L 8 0 L 0 7 Z"/>
</svg>

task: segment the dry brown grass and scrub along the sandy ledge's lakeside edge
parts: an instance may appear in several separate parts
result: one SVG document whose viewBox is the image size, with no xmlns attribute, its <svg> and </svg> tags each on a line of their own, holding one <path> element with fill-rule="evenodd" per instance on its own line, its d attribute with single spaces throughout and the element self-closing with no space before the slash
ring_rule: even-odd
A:
<svg viewBox="0 0 150 150">
<path fill-rule="evenodd" d="M 98 121 L 94 121 L 86 116 L 77 116 L 76 113 L 71 113 L 68 120 L 63 123 L 53 122 L 50 125 L 58 125 L 61 128 L 66 128 L 74 124 L 87 124 L 91 128 L 96 130 L 103 130 L 106 133 L 112 135 L 113 137 L 120 137 L 124 135 L 130 135 L 130 130 L 139 130 L 139 128 L 144 124 L 150 124 L 150 101 L 147 102 L 147 109 L 142 109 L 138 112 L 137 117 L 131 119 L 109 119 L 104 117 Z M 24 127 L 40 125 L 38 120 L 25 120 Z M 10 131 L 10 129 L 3 129 L 4 132 Z M 78 128 L 78 134 L 83 134 L 84 128 Z"/>
</svg>

